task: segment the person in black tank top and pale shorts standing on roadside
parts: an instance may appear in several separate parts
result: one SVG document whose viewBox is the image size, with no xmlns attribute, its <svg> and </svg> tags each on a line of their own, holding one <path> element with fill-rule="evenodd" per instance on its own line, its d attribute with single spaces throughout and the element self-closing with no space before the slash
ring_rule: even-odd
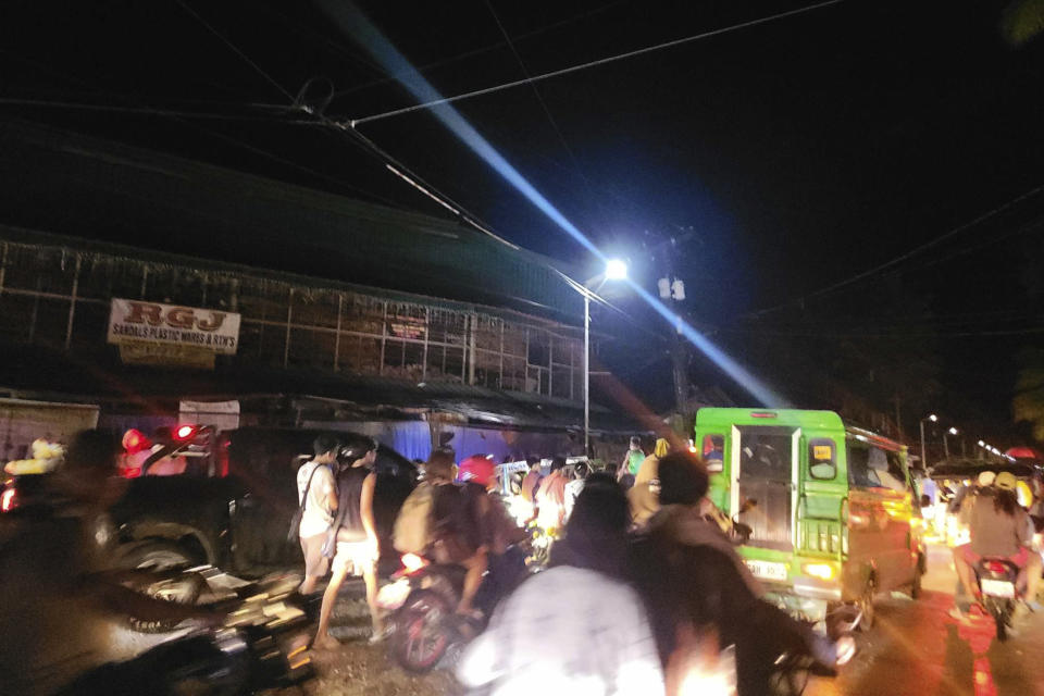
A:
<svg viewBox="0 0 1044 696">
<path fill-rule="evenodd" d="M 330 616 L 345 576 L 350 572 L 362 575 L 366 584 L 366 604 L 373 624 L 371 642 L 383 636 L 381 614 L 377 609 L 377 559 L 381 546 L 373 518 L 373 492 L 377 476 L 373 465 L 377 458 L 377 444 L 370 437 L 356 437 L 340 448 L 337 456 L 337 515 L 331 524 L 323 556 L 333 557 L 333 575 L 323 593 L 319 612 L 319 629 L 313 645 L 332 649 L 340 643 L 330 635 Z"/>
</svg>

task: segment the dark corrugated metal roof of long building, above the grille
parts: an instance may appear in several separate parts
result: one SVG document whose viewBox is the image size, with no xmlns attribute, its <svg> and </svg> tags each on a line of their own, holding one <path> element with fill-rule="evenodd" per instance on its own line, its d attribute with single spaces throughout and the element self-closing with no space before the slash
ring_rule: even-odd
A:
<svg viewBox="0 0 1044 696">
<path fill-rule="evenodd" d="M 583 318 L 561 263 L 452 220 L 10 121 L 0 145 L 0 223 Z"/>
</svg>

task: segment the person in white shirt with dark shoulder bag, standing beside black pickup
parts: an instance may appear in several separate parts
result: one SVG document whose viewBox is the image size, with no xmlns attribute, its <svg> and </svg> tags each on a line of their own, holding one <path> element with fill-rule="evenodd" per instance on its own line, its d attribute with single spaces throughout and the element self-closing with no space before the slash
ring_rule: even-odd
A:
<svg viewBox="0 0 1044 696">
<path fill-rule="evenodd" d="M 304 582 L 301 594 L 315 592 L 319 579 L 326 574 L 328 559 L 323 556 L 326 533 L 337 510 L 337 489 L 332 465 L 337 462 L 340 443 L 332 435 L 315 438 L 315 457 L 297 470 L 297 501 L 303 507 L 298 535 L 304 552 Z"/>
</svg>

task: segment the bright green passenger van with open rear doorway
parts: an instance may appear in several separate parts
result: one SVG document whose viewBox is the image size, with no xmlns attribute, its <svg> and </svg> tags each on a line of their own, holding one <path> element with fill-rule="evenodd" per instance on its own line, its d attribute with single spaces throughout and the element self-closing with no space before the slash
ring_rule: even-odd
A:
<svg viewBox="0 0 1044 696">
<path fill-rule="evenodd" d="M 925 552 L 906 447 L 831 411 L 700 409 L 711 500 L 769 596 L 835 635 L 873 624 L 879 593 L 920 594 Z"/>
</svg>

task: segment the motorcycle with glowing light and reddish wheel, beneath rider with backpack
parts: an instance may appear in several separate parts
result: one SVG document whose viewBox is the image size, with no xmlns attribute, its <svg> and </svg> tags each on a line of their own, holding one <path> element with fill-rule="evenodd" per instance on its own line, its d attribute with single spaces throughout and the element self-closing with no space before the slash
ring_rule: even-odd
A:
<svg viewBox="0 0 1044 696">
<path fill-rule="evenodd" d="M 402 569 L 377 593 L 377 606 L 387 617 L 388 651 L 399 667 L 414 674 L 435 668 L 447 655 L 459 655 L 481 633 L 497 602 L 518 586 L 529 570 L 525 552 L 511 547 L 490 557 L 489 572 L 475 595 L 475 616 L 457 613 L 465 570 L 431 563 L 407 554 Z M 451 659 L 451 658 L 450 658 Z"/>
</svg>

